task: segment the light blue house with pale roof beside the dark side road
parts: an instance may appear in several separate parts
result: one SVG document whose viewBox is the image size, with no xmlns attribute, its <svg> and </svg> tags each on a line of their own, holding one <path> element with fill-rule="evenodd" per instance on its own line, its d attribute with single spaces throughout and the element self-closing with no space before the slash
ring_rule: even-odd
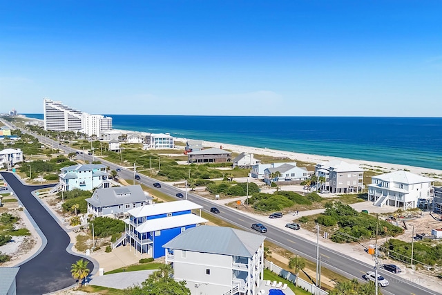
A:
<svg viewBox="0 0 442 295">
<path fill-rule="evenodd" d="M 59 182 L 63 191 L 92 191 L 95 188 L 111 187 L 107 166 L 103 164 L 77 164 L 61 168 L 60 171 Z"/>
</svg>

